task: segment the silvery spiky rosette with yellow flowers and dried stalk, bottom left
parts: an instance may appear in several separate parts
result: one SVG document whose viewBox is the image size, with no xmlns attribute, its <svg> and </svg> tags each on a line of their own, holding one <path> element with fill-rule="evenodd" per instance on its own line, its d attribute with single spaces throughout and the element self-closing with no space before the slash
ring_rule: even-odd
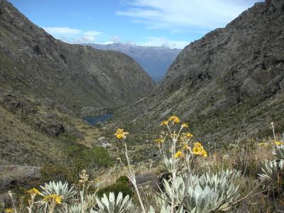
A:
<svg viewBox="0 0 284 213">
<path fill-rule="evenodd" d="M 28 190 L 31 195 L 27 207 L 28 212 L 94 212 L 97 191 L 89 194 L 88 189 L 91 185 L 96 184 L 93 180 L 89 181 L 89 175 L 85 170 L 82 170 L 79 178 L 76 188 L 74 185 L 69 187 L 67 182 L 49 182 L 40 186 L 42 189 L 40 191 L 35 188 Z M 35 197 L 38 197 L 38 199 L 35 199 Z"/>
</svg>

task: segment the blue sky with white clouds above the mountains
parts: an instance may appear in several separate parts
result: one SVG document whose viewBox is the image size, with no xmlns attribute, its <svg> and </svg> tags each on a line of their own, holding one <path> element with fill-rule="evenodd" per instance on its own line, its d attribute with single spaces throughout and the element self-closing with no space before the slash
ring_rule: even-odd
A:
<svg viewBox="0 0 284 213">
<path fill-rule="evenodd" d="M 9 0 L 68 43 L 184 48 L 259 0 Z"/>
</svg>

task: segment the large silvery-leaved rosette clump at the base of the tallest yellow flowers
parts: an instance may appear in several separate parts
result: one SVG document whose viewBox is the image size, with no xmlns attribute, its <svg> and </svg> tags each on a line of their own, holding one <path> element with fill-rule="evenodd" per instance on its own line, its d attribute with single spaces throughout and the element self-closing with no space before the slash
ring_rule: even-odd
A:
<svg viewBox="0 0 284 213">
<path fill-rule="evenodd" d="M 189 178 L 190 182 L 187 188 L 185 188 L 186 178 Z M 229 209 L 229 204 L 239 197 L 238 187 L 234 185 L 236 178 L 239 178 L 239 172 L 229 170 L 214 175 L 205 173 L 201 176 L 178 176 L 173 182 L 173 194 L 170 183 L 164 180 L 163 196 L 166 196 L 163 198 L 170 202 L 172 197 L 175 197 L 175 206 L 180 207 L 183 204 L 183 209 L 187 212 L 226 211 Z"/>
</svg>

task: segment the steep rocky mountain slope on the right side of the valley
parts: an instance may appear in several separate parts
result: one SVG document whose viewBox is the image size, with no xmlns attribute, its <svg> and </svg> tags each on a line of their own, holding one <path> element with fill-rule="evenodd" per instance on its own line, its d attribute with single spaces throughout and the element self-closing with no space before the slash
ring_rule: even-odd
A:
<svg viewBox="0 0 284 213">
<path fill-rule="evenodd" d="M 153 94 L 124 111 L 151 130 L 176 114 L 205 142 L 266 136 L 271 121 L 282 133 L 283 23 L 284 1 L 255 4 L 187 45 Z"/>
</svg>

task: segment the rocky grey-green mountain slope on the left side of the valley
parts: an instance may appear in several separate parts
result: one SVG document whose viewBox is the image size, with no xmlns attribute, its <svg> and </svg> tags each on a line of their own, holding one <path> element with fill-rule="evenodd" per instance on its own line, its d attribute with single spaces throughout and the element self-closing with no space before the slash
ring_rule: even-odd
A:
<svg viewBox="0 0 284 213">
<path fill-rule="evenodd" d="M 153 85 L 127 55 L 56 40 L 0 0 L 0 87 L 80 109 L 117 107 Z"/>
</svg>

